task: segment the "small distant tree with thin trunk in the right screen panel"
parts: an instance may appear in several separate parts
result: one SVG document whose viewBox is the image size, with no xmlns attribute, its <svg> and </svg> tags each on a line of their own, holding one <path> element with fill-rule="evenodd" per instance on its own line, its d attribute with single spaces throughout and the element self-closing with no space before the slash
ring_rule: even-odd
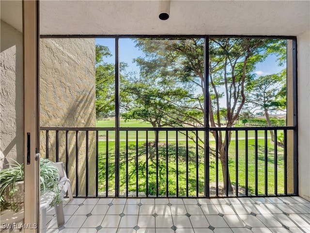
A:
<svg viewBox="0 0 310 233">
<path fill-rule="evenodd" d="M 269 113 L 283 110 L 286 107 L 286 91 L 283 94 L 283 79 L 279 74 L 261 76 L 252 82 L 248 88 L 248 103 L 252 109 L 263 110 L 268 126 L 272 126 Z M 280 89 L 280 91 L 279 91 Z M 275 140 L 273 130 L 270 130 L 271 140 Z"/>
</svg>

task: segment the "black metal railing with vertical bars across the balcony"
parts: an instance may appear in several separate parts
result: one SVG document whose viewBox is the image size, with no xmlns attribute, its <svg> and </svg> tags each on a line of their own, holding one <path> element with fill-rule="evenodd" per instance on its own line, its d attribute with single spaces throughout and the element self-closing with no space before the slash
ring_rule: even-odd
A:
<svg viewBox="0 0 310 233">
<path fill-rule="evenodd" d="M 76 197 L 298 193 L 295 127 L 40 130 L 41 154 L 65 163 Z"/>
</svg>

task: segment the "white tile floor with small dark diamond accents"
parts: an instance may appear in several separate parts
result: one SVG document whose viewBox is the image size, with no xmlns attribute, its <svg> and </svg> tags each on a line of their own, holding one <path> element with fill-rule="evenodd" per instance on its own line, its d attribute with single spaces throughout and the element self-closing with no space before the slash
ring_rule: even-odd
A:
<svg viewBox="0 0 310 233">
<path fill-rule="evenodd" d="M 310 233 L 310 202 L 300 197 L 82 199 L 64 205 L 47 233 Z"/>
</svg>

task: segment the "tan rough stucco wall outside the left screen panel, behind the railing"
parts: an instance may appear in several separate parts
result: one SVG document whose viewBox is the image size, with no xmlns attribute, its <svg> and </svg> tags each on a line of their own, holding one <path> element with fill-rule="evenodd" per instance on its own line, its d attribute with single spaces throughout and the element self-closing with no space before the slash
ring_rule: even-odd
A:
<svg viewBox="0 0 310 233">
<path fill-rule="evenodd" d="M 95 127 L 95 40 L 50 38 L 40 41 L 40 125 Z M 55 131 L 49 132 L 49 158 L 56 160 Z M 68 176 L 76 188 L 76 133 L 68 133 Z M 46 134 L 41 132 L 41 156 Z M 59 160 L 65 162 L 65 131 L 59 132 Z M 78 133 L 78 194 L 85 195 L 86 135 Z M 95 193 L 95 134 L 89 133 L 89 194 Z"/>
</svg>

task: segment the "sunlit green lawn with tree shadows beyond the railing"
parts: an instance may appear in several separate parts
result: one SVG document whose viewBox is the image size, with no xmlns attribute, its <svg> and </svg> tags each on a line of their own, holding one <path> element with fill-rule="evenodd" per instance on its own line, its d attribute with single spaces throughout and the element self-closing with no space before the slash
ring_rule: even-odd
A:
<svg viewBox="0 0 310 233">
<path fill-rule="evenodd" d="M 97 127 L 111 127 L 113 122 L 111 120 L 98 121 Z M 137 120 L 129 122 L 121 122 L 122 127 L 151 127 L 147 123 Z M 109 131 L 109 143 L 106 143 L 106 132 L 100 132 L 99 135 L 103 137 L 99 141 L 99 191 L 104 193 L 106 190 L 106 159 L 108 150 L 108 187 L 109 195 L 114 194 L 115 190 L 115 134 Z M 146 135 L 144 132 L 138 134 L 138 145 L 136 142 L 136 132 L 128 132 L 128 151 L 126 152 L 125 132 L 120 133 L 120 192 L 126 191 L 126 177 L 128 177 L 128 192 L 136 192 L 136 177 L 138 174 L 138 191 L 146 192 L 146 161 L 148 161 L 148 193 L 149 195 L 156 194 L 156 150 L 155 147 L 148 146 L 146 151 Z M 202 132 L 203 135 L 203 132 Z M 265 179 L 265 157 L 264 157 L 264 139 L 263 131 L 258 132 L 258 193 L 264 194 L 265 182 L 268 186 L 268 194 L 274 194 L 275 188 L 275 161 L 274 161 L 274 145 L 268 139 L 267 143 L 267 179 Z M 269 136 L 269 133 L 268 133 Z M 238 149 L 235 151 L 234 135 L 229 147 L 229 171 L 231 181 L 235 183 L 236 174 L 236 159 L 238 156 L 238 184 L 241 187 L 246 185 L 246 158 L 245 151 L 246 145 L 244 140 L 244 132 L 238 134 Z M 248 188 L 249 192 L 254 193 L 255 189 L 255 140 L 254 131 L 248 132 Z M 149 142 L 154 141 L 154 132 L 149 132 Z M 176 161 L 178 162 L 178 180 L 179 195 L 186 195 L 186 141 L 185 135 L 178 133 L 178 147 L 176 147 L 176 132 L 169 132 L 168 145 L 166 144 L 166 132 L 159 133 L 159 146 L 158 146 L 158 193 L 159 195 L 166 195 L 166 174 L 167 174 L 167 157 L 168 157 L 168 194 L 176 195 Z M 212 141 L 213 139 L 213 141 Z M 202 144 L 201 144 L 202 145 Z M 108 149 L 107 149 L 108 146 Z M 210 134 L 210 147 L 215 148 L 215 141 Z M 168 150 L 168 153 L 167 153 Z M 146 157 L 146 152 L 148 158 Z M 176 160 L 176 153 L 178 152 L 178 160 Z M 126 155 L 128 155 L 128 172 L 126 170 Z M 196 177 L 198 158 L 198 179 Z M 138 161 L 138 164 L 137 164 Z M 203 195 L 204 192 L 204 153 L 201 148 L 196 154 L 196 143 L 188 141 L 188 194 L 196 195 L 196 187 L 198 185 L 199 194 Z M 136 166 L 138 170 L 136 170 Z M 216 182 L 216 160 L 210 155 L 210 183 Z M 278 175 L 278 193 L 283 193 L 284 187 L 284 173 L 283 173 L 283 149 L 278 147 L 278 161 L 277 161 L 277 175 Z M 197 184 L 198 181 L 198 184 Z M 218 181 L 223 181 L 222 170 L 220 162 L 218 161 Z M 241 194 L 241 193 L 240 193 Z"/>
</svg>

